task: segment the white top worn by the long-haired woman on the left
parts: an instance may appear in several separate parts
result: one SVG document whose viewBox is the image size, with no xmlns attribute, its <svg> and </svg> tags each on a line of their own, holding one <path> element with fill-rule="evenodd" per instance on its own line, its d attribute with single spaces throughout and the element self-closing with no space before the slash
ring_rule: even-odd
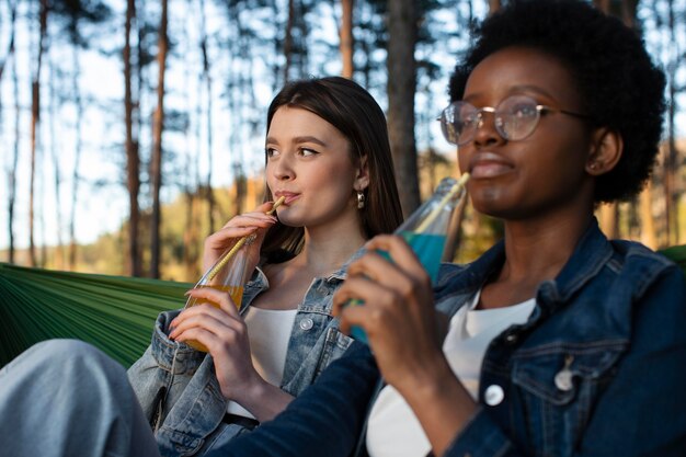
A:
<svg viewBox="0 0 686 457">
<path fill-rule="evenodd" d="M 284 377 L 288 341 L 297 312 L 297 309 L 262 309 L 252 306 L 243 312 L 252 364 L 258 374 L 271 385 L 279 386 Z M 255 419 L 235 401 L 229 402 L 227 412 Z"/>
</svg>

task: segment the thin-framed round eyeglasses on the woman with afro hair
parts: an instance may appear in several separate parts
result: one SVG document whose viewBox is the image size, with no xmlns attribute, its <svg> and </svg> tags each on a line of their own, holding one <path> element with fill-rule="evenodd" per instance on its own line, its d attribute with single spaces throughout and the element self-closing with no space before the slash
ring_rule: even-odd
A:
<svg viewBox="0 0 686 457">
<path fill-rule="evenodd" d="M 471 141 L 483 125 L 483 113 L 493 113 L 495 129 L 500 136 L 510 141 L 519 141 L 534 133 L 542 112 L 588 118 L 585 114 L 539 105 L 526 95 L 512 95 L 500 102 L 496 107 L 478 108 L 467 102 L 454 102 L 443 110 L 438 121 L 445 139 L 453 145 L 462 146 Z"/>
</svg>

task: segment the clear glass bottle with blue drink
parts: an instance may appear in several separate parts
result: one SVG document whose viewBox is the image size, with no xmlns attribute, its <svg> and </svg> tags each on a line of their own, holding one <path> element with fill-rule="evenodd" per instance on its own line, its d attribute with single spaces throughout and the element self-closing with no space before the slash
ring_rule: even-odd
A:
<svg viewBox="0 0 686 457">
<path fill-rule="evenodd" d="M 431 277 L 432 284 L 435 284 L 438 277 L 453 213 L 466 198 L 465 183 L 468 179 L 468 173 L 462 174 L 459 180 L 443 179 L 434 194 L 395 231 L 395 235 L 400 235 L 412 248 Z M 379 253 L 390 261 L 386 252 Z M 350 305 L 364 305 L 364 301 L 351 300 Z M 367 335 L 359 327 L 353 327 L 351 335 L 367 342 Z"/>
</svg>

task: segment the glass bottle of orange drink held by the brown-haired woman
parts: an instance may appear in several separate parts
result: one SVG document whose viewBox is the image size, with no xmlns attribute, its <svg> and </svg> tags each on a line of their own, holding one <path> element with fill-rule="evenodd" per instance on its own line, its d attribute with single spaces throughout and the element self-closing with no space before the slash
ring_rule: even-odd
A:
<svg viewBox="0 0 686 457">
<path fill-rule="evenodd" d="M 274 202 L 272 209 L 266 214 L 273 214 L 276 207 L 284 203 L 284 197 L 281 197 Z M 243 298 L 243 286 L 248 282 L 249 275 L 252 273 L 252 269 L 249 269 L 250 263 L 248 260 L 250 247 L 255 241 L 255 238 L 256 236 L 254 233 L 240 238 L 233 247 L 227 249 L 219 260 L 205 272 L 201 281 L 198 281 L 193 288 L 211 287 L 217 290 L 226 292 L 231 297 L 233 304 L 240 308 Z M 215 307 L 219 307 L 218 304 L 204 298 L 188 297 L 184 309 L 202 304 L 210 304 Z M 208 352 L 207 347 L 197 341 L 187 341 L 186 344 L 197 351 Z"/>
</svg>

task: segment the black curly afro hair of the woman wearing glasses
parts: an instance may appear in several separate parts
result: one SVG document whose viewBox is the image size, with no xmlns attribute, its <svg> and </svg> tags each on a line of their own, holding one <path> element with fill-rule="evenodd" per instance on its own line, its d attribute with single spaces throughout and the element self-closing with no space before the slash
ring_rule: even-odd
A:
<svg viewBox="0 0 686 457">
<path fill-rule="evenodd" d="M 624 138 L 619 163 L 597 180 L 595 202 L 640 192 L 662 135 L 665 77 L 636 31 L 581 0 L 515 0 L 483 21 L 475 37 L 450 78 L 451 101 L 462 98 L 467 78 L 491 54 L 511 46 L 548 53 L 576 80 L 592 125 Z"/>
</svg>

